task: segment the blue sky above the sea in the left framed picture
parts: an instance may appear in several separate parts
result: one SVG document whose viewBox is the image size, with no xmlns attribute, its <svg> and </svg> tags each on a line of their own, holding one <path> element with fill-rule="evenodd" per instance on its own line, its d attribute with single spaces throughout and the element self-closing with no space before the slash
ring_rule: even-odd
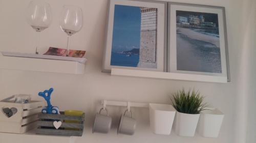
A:
<svg viewBox="0 0 256 143">
<path fill-rule="evenodd" d="M 112 52 L 121 52 L 140 46 L 139 7 L 115 5 Z"/>
</svg>

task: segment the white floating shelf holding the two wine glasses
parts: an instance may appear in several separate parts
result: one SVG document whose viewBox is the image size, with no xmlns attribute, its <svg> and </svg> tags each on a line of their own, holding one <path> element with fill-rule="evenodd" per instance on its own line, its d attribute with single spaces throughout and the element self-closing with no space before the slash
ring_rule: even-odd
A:
<svg viewBox="0 0 256 143">
<path fill-rule="evenodd" d="M 74 61 L 22 58 L 0 55 L 0 69 L 83 74 L 84 64 Z"/>
</svg>

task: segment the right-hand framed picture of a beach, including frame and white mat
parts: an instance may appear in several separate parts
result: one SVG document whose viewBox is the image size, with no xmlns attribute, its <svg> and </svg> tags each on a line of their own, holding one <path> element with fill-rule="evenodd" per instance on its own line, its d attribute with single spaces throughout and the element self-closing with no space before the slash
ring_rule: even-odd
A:
<svg viewBox="0 0 256 143">
<path fill-rule="evenodd" d="M 230 80 L 225 9 L 168 3 L 167 61 L 168 72 L 181 77 Z"/>
</svg>

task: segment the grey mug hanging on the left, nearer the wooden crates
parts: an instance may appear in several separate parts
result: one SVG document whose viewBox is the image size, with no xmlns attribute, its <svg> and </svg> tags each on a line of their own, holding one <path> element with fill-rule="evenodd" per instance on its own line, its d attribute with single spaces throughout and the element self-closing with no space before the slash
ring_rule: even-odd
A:
<svg viewBox="0 0 256 143">
<path fill-rule="evenodd" d="M 105 110 L 106 115 L 102 115 L 101 111 Z M 108 133 L 111 129 L 112 118 L 109 117 L 109 112 L 107 109 L 101 108 L 99 113 L 96 113 L 94 125 L 93 125 L 93 133 Z"/>
</svg>

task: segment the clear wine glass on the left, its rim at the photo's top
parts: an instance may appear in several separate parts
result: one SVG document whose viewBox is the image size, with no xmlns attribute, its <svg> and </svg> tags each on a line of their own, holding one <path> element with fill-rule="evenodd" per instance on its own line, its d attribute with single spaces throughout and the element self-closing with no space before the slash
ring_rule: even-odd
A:
<svg viewBox="0 0 256 143">
<path fill-rule="evenodd" d="M 31 1 L 27 8 L 26 19 L 37 33 L 35 53 L 38 54 L 37 49 L 40 43 L 40 32 L 48 28 L 52 22 L 51 6 L 40 0 Z"/>
</svg>

